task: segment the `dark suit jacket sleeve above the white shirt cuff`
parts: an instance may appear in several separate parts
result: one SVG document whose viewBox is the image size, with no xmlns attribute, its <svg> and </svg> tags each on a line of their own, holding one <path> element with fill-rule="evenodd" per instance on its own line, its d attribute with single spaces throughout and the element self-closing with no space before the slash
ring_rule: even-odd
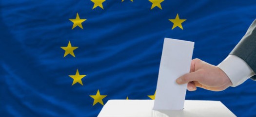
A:
<svg viewBox="0 0 256 117">
<path fill-rule="evenodd" d="M 230 54 L 243 59 L 256 73 L 256 20 Z M 256 80 L 256 75 L 251 79 Z"/>
</svg>

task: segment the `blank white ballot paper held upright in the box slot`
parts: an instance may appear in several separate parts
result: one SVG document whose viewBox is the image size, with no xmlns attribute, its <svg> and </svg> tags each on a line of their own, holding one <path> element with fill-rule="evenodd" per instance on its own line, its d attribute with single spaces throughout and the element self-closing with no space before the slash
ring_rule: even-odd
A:
<svg viewBox="0 0 256 117">
<path fill-rule="evenodd" d="M 189 73 L 194 42 L 165 38 L 160 62 L 154 110 L 182 110 L 187 84 L 176 79 Z"/>
</svg>

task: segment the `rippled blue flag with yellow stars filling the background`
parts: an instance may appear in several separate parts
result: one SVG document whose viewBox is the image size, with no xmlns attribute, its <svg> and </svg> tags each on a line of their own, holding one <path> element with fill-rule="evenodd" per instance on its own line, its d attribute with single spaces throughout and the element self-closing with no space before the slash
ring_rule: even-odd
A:
<svg viewBox="0 0 256 117">
<path fill-rule="evenodd" d="M 107 100 L 150 100 L 164 37 L 194 41 L 193 58 L 217 65 L 256 18 L 256 0 L 98 1 L 0 1 L 1 117 L 96 117 Z M 255 86 L 186 99 L 256 117 Z"/>
</svg>

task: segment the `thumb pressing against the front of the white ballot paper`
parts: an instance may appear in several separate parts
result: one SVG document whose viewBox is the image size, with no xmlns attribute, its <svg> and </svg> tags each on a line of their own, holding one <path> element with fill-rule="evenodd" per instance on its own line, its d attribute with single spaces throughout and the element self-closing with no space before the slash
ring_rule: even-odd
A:
<svg viewBox="0 0 256 117">
<path fill-rule="evenodd" d="M 198 71 L 186 73 L 179 78 L 177 78 L 176 83 L 177 84 L 187 84 L 191 81 L 198 81 L 198 78 L 200 77 L 200 74 Z"/>
</svg>

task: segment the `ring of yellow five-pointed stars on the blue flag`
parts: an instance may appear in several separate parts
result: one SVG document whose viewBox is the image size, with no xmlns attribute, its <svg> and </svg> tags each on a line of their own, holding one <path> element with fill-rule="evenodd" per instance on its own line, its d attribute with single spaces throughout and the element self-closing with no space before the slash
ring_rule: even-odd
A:
<svg viewBox="0 0 256 117">
<path fill-rule="evenodd" d="M 92 10 L 99 7 L 101 9 L 104 9 L 103 7 L 103 3 L 106 1 L 106 0 L 91 0 L 94 5 L 92 7 Z M 121 0 L 121 2 L 123 2 L 124 0 Z M 131 2 L 134 2 L 134 0 L 130 0 Z M 149 0 L 152 5 L 151 5 L 151 10 L 154 9 L 155 7 L 158 7 L 160 10 L 162 10 L 162 6 L 161 6 L 161 3 L 164 1 L 164 0 Z M 76 15 L 76 18 L 74 19 L 69 19 L 72 23 L 73 23 L 73 26 L 72 26 L 72 30 L 76 27 L 79 27 L 80 29 L 83 29 L 83 26 L 82 26 L 82 23 L 84 21 L 86 21 L 87 19 L 85 18 L 80 18 L 79 17 L 79 13 L 77 13 Z M 175 29 L 176 27 L 179 27 L 180 29 L 183 30 L 183 27 L 182 27 L 182 23 L 184 21 L 186 21 L 186 19 L 180 19 L 179 18 L 179 15 L 177 14 L 176 17 L 174 19 L 169 19 L 170 22 L 173 23 L 173 27 L 172 27 L 172 30 Z M 69 41 L 68 42 L 68 45 L 66 47 L 60 47 L 61 49 L 65 50 L 65 53 L 64 53 L 64 56 L 63 58 L 65 58 L 67 55 L 71 55 L 73 57 L 76 57 L 75 56 L 75 53 L 74 53 L 74 50 L 78 49 L 79 47 L 74 47 L 71 45 L 71 42 Z M 81 84 L 83 85 L 82 83 L 82 79 L 85 77 L 86 75 L 80 75 L 79 73 L 79 70 L 77 69 L 76 71 L 76 74 L 75 75 L 69 75 L 70 78 L 73 79 L 73 83 L 72 83 L 72 86 L 74 84 Z M 94 99 L 93 101 L 93 106 L 97 103 L 101 104 L 101 105 L 104 105 L 103 103 L 103 99 L 107 97 L 107 95 L 100 95 L 100 92 L 99 92 L 99 89 L 97 90 L 97 93 L 96 95 L 90 95 L 90 97 L 92 99 Z M 155 100 L 155 97 L 156 97 L 156 92 L 154 95 L 148 95 L 148 98 L 152 99 L 152 100 Z M 126 97 L 126 100 L 129 100 L 128 96 Z"/>
</svg>

